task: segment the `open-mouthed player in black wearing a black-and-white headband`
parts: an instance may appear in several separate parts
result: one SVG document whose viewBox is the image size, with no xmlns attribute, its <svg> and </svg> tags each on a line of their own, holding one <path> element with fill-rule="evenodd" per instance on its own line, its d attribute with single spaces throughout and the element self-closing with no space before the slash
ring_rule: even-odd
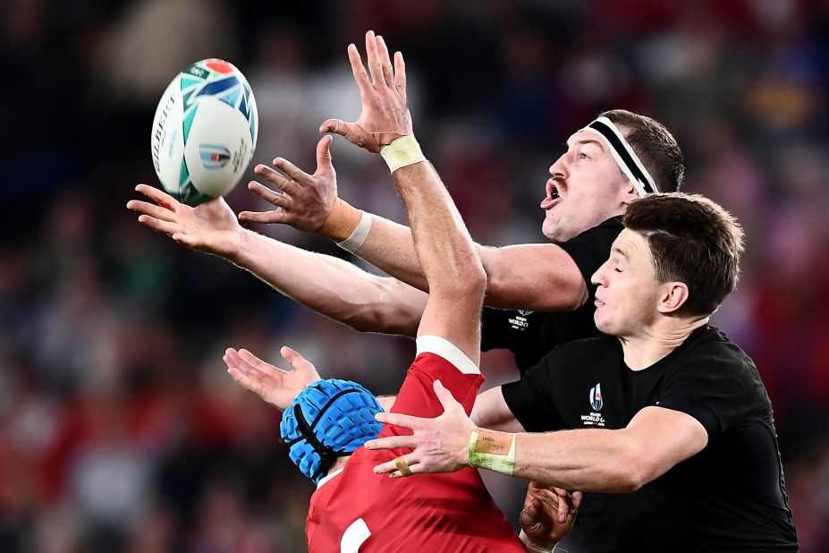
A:
<svg viewBox="0 0 829 553">
<path fill-rule="evenodd" d="M 331 120 L 321 130 L 343 134 L 363 148 L 378 151 L 377 140 L 388 140 L 392 133 L 376 132 L 378 106 L 364 83 L 369 78 L 384 79 L 383 68 L 390 67 L 391 60 L 385 42 L 374 33 L 368 33 L 366 48 L 368 72 L 356 49 L 350 54 L 362 96 L 360 119 L 356 123 Z M 396 115 L 410 121 L 408 109 L 402 107 L 404 111 Z M 248 269 L 314 311 L 362 331 L 413 337 L 426 305 L 427 285 L 410 229 L 337 198 L 330 141 L 326 136 L 317 145 L 314 174 L 305 174 L 281 158 L 275 166 L 283 174 L 257 166 L 257 174 L 282 193 L 251 183 L 250 189 L 276 208 L 258 214 L 242 212 L 239 219 L 284 223 L 324 234 L 393 277 L 371 275 L 343 259 L 246 230 L 221 199 L 190 208 L 141 184 L 137 190 L 155 203 L 131 200 L 128 207 L 140 213 L 144 225 Z M 512 350 L 523 371 L 556 345 L 597 336 L 589 278 L 622 231 L 624 209 L 649 191 L 678 190 L 683 173 L 676 140 L 649 117 L 608 111 L 575 132 L 567 140 L 567 151 L 550 166 L 546 197 L 541 201 L 542 231 L 554 243 L 477 245 L 488 278 L 486 304 L 491 306 L 484 311 L 482 349 Z"/>
</svg>

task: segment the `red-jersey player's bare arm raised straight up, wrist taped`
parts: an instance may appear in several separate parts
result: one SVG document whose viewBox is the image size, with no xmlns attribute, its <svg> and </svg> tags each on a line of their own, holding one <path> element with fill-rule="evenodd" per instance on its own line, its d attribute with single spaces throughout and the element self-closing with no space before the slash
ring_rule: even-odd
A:
<svg viewBox="0 0 829 553">
<path fill-rule="evenodd" d="M 372 107 L 355 124 L 376 140 L 392 170 L 429 284 L 418 336 L 444 337 L 478 364 L 486 273 L 449 192 L 414 140 L 402 54 L 394 55 L 392 67 L 385 41 L 374 33 L 367 35 L 366 50 L 370 79 L 357 48 L 349 46 L 360 96 L 364 105 Z"/>
</svg>

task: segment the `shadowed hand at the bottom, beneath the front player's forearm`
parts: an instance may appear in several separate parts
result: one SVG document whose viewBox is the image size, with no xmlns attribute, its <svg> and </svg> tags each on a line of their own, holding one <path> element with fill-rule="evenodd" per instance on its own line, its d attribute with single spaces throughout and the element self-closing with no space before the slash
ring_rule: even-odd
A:
<svg viewBox="0 0 829 553">
<path fill-rule="evenodd" d="M 521 530 L 538 546 L 548 548 L 570 532 L 581 505 L 581 492 L 531 481 L 521 511 Z"/>
</svg>

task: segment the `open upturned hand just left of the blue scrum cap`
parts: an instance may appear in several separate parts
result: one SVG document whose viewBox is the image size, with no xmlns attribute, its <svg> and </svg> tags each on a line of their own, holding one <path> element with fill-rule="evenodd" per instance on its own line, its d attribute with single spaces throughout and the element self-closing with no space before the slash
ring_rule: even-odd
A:
<svg viewBox="0 0 829 553">
<path fill-rule="evenodd" d="M 279 353 L 291 363 L 293 370 L 275 367 L 245 349 L 227 348 L 222 359 L 227 365 L 227 373 L 241 387 L 284 411 L 305 387 L 319 380 L 319 373 L 313 364 L 290 347 L 283 346 Z"/>
</svg>

